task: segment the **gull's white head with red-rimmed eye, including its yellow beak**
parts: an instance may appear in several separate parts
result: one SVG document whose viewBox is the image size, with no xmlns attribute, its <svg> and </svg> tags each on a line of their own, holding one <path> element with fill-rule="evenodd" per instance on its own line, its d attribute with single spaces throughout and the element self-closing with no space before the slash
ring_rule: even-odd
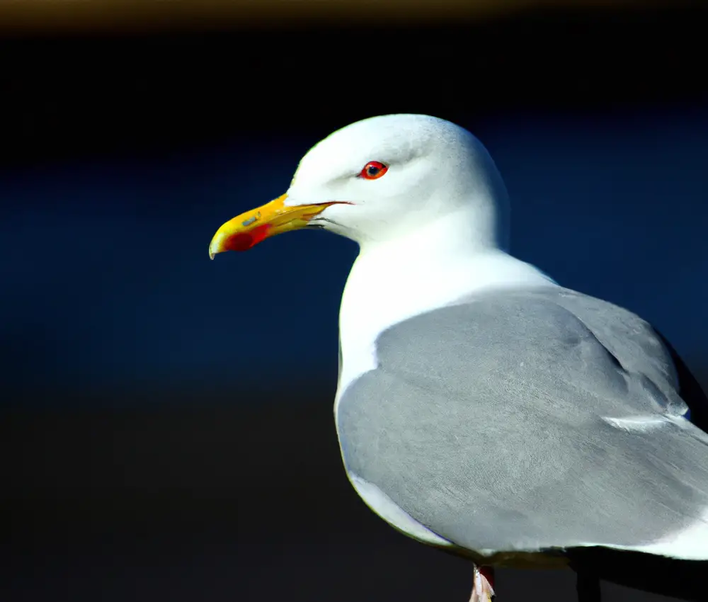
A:
<svg viewBox="0 0 708 602">
<path fill-rule="evenodd" d="M 467 130 L 427 115 L 385 115 L 316 144 L 287 193 L 219 228 L 210 255 L 306 226 L 342 234 L 362 250 L 416 232 L 503 247 L 508 197 L 491 157 Z"/>
</svg>

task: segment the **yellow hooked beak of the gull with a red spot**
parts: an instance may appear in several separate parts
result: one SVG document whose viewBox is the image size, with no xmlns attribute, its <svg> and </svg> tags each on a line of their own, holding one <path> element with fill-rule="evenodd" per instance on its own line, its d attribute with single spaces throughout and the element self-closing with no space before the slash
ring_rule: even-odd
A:
<svg viewBox="0 0 708 602">
<path fill-rule="evenodd" d="M 289 232 L 307 226 L 307 222 L 333 203 L 317 205 L 285 205 L 287 195 L 279 196 L 257 209 L 236 215 L 214 234 L 209 245 L 209 256 L 214 259 L 222 251 L 246 251 L 263 239 L 281 232 Z"/>
</svg>

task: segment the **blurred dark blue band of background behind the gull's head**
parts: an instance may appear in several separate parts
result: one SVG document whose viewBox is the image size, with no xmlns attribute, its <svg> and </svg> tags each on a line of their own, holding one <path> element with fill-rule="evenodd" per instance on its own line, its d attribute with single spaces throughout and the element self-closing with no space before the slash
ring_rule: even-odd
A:
<svg viewBox="0 0 708 602">
<path fill-rule="evenodd" d="M 639 313 L 704 370 L 708 112 L 461 123 L 486 144 L 506 180 L 513 253 L 570 288 Z M 330 385 L 355 244 L 297 232 L 246 254 L 207 257 L 215 229 L 285 191 L 314 142 L 245 137 L 3 174 L 6 384 Z M 238 387 L 232 401 L 241 401 Z M 21 403 L 52 404 L 52 395 Z"/>
</svg>

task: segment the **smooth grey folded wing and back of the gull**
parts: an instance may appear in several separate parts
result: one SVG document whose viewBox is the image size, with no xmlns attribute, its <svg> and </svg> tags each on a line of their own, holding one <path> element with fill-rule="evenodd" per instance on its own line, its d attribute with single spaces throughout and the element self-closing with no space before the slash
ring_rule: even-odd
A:
<svg viewBox="0 0 708 602">
<path fill-rule="evenodd" d="M 347 470 L 469 550 L 652 543 L 708 510 L 708 436 L 636 315 L 562 288 L 402 322 L 343 394 Z"/>
</svg>

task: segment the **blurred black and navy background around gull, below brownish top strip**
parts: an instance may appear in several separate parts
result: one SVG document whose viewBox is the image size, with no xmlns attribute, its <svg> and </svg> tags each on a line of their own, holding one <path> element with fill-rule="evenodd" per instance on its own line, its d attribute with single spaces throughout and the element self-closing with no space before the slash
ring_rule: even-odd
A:
<svg viewBox="0 0 708 602">
<path fill-rule="evenodd" d="M 708 11 L 634 4 L 147 31 L 0 12 L 0 600 L 467 599 L 470 565 L 395 533 L 341 467 L 353 243 L 207 258 L 359 118 L 472 130 L 515 254 L 649 319 L 706 385 Z M 573 575 L 497 589 L 569 600 Z"/>
</svg>

